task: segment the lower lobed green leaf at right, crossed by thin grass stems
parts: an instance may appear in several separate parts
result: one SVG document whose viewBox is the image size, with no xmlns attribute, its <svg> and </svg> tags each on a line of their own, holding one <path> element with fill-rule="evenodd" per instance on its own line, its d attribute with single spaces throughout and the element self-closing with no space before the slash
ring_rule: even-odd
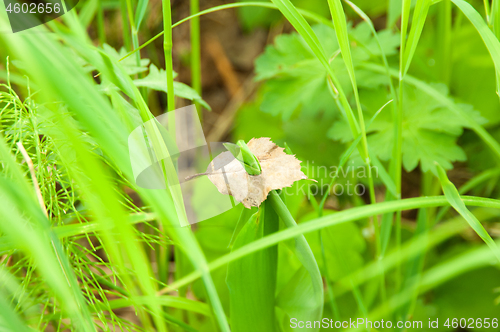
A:
<svg viewBox="0 0 500 332">
<path fill-rule="evenodd" d="M 447 95 L 444 85 L 435 85 L 441 94 Z M 379 90 L 379 93 L 383 93 Z M 457 137 L 468 127 L 465 119 L 456 116 L 440 102 L 429 98 L 425 93 L 405 86 L 405 109 L 403 112 L 403 166 L 406 171 L 414 170 L 419 164 L 423 172 L 434 169 L 434 161 L 450 169 L 455 161 L 466 160 L 463 149 L 456 144 Z M 374 102 L 382 102 L 380 96 L 369 96 Z M 381 101 L 378 101 L 380 100 Z M 366 100 L 366 99 L 365 99 Z M 470 105 L 456 104 L 464 112 L 478 121 L 484 119 Z M 330 137 L 348 141 L 349 131 L 345 121 L 332 127 Z M 394 140 L 392 120 L 389 114 L 382 113 L 367 130 L 371 151 L 382 160 L 391 158 L 391 142 Z"/>
</svg>

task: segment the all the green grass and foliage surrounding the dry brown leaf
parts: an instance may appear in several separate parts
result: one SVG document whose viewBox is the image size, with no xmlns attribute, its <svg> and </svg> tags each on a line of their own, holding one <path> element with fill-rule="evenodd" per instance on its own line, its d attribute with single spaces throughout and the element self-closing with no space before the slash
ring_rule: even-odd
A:
<svg viewBox="0 0 500 332">
<path fill-rule="evenodd" d="M 198 18 L 191 88 L 174 81 L 185 46 L 172 29 L 194 16 L 172 25 L 184 7 L 162 1 L 161 16 L 154 6 L 92 0 L 34 33 L 0 34 L 9 57 L 0 65 L 0 330 L 284 332 L 297 330 L 290 318 L 425 327 L 498 313 L 497 1 L 491 10 L 463 0 L 240 1 L 199 12 L 192 0 L 196 17 L 239 8 L 244 33 L 277 33 L 256 59 L 256 93 L 220 113 L 236 112 L 225 138 L 286 142 L 310 180 L 271 192 L 258 212 L 234 207 L 190 227 L 179 227 L 184 203 L 213 195 L 208 178 L 187 196 L 139 188 L 127 149 L 130 131 L 173 110 L 174 97 L 209 109 Z M 203 96 L 219 98 L 213 90 Z M 200 110 L 208 132 L 225 121 L 218 108 Z M 151 134 L 158 153 L 161 132 Z M 258 173 L 244 143 L 227 147 Z M 341 169 L 367 165 L 369 181 Z M 164 166 L 179 184 L 176 162 Z M 370 192 L 332 190 L 347 181 Z"/>
</svg>

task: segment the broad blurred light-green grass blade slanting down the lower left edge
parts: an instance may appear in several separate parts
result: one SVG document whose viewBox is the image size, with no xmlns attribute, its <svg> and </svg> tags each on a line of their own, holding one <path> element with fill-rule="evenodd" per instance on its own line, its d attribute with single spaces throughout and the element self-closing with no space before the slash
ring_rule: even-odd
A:
<svg viewBox="0 0 500 332">
<path fill-rule="evenodd" d="M 0 156 L 8 167 L 14 181 L 0 176 L 0 195 L 2 196 L 0 214 L 4 222 L 0 223 L 3 233 L 16 242 L 25 252 L 40 262 L 38 268 L 47 283 L 66 307 L 68 314 L 79 322 L 82 331 L 95 331 L 88 307 L 77 287 L 78 282 L 72 273 L 69 261 L 61 243 L 50 229 L 49 220 L 37 203 L 34 191 L 24 180 L 24 176 L 13 160 L 0 136 Z M 33 228 L 23 218 L 31 216 Z M 38 231 L 38 232 L 37 232 Z"/>
</svg>

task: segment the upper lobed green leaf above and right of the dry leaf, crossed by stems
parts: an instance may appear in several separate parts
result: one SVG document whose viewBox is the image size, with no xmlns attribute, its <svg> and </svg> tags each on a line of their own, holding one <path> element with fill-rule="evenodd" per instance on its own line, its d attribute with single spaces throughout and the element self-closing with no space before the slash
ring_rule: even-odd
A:
<svg viewBox="0 0 500 332">
<path fill-rule="evenodd" d="M 349 77 L 342 58 L 338 56 L 339 46 L 336 39 L 332 38 L 335 31 L 326 25 L 313 26 L 313 31 L 321 41 L 327 58 L 331 60 L 333 72 L 341 84 L 348 87 Z M 358 79 L 359 87 L 374 89 L 387 84 L 384 75 L 358 68 L 363 61 L 377 59 L 381 54 L 376 42 L 370 36 L 368 25 L 360 23 L 355 28 L 350 27 L 349 34 L 354 44 L 352 47 L 354 66 L 358 77 L 362 77 Z M 382 31 L 379 36 L 385 54 L 387 56 L 396 54 L 399 45 L 397 35 L 390 31 Z M 278 36 L 274 46 L 268 46 L 264 54 L 257 58 L 255 65 L 257 79 L 265 80 L 261 104 L 264 112 L 281 114 L 283 119 L 288 120 L 294 112 L 304 112 L 312 116 L 327 110 L 331 112 L 332 108 L 336 108 L 327 84 L 327 72 L 298 34 Z"/>
</svg>

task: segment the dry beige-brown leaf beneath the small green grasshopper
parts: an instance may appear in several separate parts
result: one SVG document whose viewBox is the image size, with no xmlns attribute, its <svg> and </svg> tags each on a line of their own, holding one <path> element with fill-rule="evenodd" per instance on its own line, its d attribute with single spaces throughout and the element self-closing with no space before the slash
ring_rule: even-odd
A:
<svg viewBox="0 0 500 332">
<path fill-rule="evenodd" d="M 215 157 L 206 173 L 221 194 L 233 196 L 246 208 L 260 206 L 271 190 L 307 179 L 300 169 L 301 161 L 286 154 L 270 138 L 252 138 L 247 146 L 259 160 L 260 175 L 249 175 L 229 151 Z"/>
</svg>

